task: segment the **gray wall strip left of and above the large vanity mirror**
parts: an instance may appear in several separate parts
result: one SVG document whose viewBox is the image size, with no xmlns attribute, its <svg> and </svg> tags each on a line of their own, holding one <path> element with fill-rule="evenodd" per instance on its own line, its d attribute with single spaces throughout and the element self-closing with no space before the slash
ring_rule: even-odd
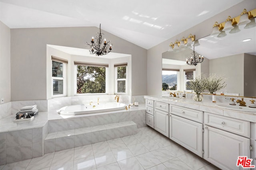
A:
<svg viewBox="0 0 256 170">
<path fill-rule="evenodd" d="M 212 31 L 212 25 L 215 21 L 222 23 L 228 16 L 238 16 L 246 8 L 247 11 L 254 9 L 256 6 L 255 0 L 244 0 L 243 2 L 232 6 L 228 10 L 221 12 L 220 14 L 213 16 L 212 18 L 189 28 L 186 31 L 168 39 L 148 49 L 148 95 L 161 95 L 162 94 L 162 53 L 168 51 L 170 42 L 175 42 L 176 39 L 188 36 L 190 33 L 196 35 L 196 39 L 200 39 L 210 35 Z M 214 49 L 213 49 L 214 52 Z M 202 54 L 203 55 L 203 54 Z M 203 71 L 203 70 L 202 70 Z"/>
</svg>

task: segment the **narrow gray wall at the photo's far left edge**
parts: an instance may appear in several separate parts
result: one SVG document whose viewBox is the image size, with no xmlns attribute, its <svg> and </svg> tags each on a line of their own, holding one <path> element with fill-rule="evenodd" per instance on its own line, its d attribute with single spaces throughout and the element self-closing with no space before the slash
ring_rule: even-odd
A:
<svg viewBox="0 0 256 170">
<path fill-rule="evenodd" d="M 0 21 L 0 98 L 11 101 L 10 28 Z"/>
</svg>

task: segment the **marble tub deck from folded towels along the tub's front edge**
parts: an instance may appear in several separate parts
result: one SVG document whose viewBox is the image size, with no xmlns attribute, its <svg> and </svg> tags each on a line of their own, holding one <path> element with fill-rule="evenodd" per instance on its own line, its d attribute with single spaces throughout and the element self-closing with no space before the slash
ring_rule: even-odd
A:
<svg viewBox="0 0 256 170">
<path fill-rule="evenodd" d="M 66 118 L 70 118 L 70 117 L 83 117 L 83 116 L 117 113 L 117 112 L 125 112 L 125 111 L 136 111 L 136 110 L 142 110 L 142 109 L 146 109 L 145 104 L 140 104 L 140 106 L 132 106 L 128 110 L 124 109 L 124 110 L 119 110 L 119 111 L 93 113 L 93 114 L 86 114 L 86 115 L 85 114 L 84 115 L 60 115 L 57 113 L 58 109 L 54 109 L 54 110 L 46 111 L 46 112 L 39 112 L 38 115 L 36 115 L 34 117 L 34 120 L 32 120 L 32 121 L 27 120 L 27 121 L 18 121 L 18 122 L 17 121 L 14 122 L 16 115 L 12 114 L 3 119 L 0 119 L 0 133 L 41 128 L 47 123 L 48 120 L 66 119 Z"/>
</svg>

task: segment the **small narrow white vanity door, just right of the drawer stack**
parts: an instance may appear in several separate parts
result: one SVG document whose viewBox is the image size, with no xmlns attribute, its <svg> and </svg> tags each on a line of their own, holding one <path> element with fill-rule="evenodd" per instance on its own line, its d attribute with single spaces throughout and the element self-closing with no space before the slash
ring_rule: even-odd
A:
<svg viewBox="0 0 256 170">
<path fill-rule="evenodd" d="M 154 119 L 156 131 L 169 137 L 169 113 L 155 109 Z"/>
</svg>

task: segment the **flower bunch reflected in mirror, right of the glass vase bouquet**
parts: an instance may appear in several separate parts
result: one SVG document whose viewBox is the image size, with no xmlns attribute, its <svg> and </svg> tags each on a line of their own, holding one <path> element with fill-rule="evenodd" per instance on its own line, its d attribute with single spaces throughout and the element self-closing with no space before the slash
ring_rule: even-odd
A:
<svg viewBox="0 0 256 170">
<path fill-rule="evenodd" d="M 223 78 L 221 76 L 216 76 L 215 74 L 212 76 L 209 76 L 207 78 L 207 85 L 206 89 L 209 90 L 210 94 L 213 94 L 214 92 L 225 88 L 227 84 L 223 82 Z"/>
</svg>

